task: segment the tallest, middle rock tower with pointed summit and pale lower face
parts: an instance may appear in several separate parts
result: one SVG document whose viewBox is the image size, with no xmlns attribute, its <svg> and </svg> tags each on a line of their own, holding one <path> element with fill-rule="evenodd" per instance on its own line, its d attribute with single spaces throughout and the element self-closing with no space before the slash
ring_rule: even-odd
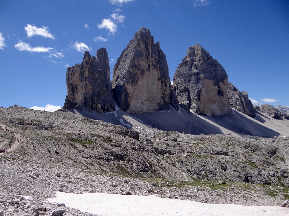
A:
<svg viewBox="0 0 289 216">
<path fill-rule="evenodd" d="M 166 55 L 148 29 L 141 28 L 113 68 L 114 99 L 129 114 L 169 108 L 170 79 Z"/>
</svg>

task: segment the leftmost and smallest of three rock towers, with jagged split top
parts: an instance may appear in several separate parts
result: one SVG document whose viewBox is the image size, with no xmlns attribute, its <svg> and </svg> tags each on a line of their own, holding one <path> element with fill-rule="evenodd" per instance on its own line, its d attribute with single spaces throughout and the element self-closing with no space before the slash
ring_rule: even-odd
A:
<svg viewBox="0 0 289 216">
<path fill-rule="evenodd" d="M 103 113 L 115 110 L 105 48 L 97 50 L 96 57 L 85 51 L 80 65 L 67 68 L 66 85 L 64 108 L 91 108 Z"/>
</svg>

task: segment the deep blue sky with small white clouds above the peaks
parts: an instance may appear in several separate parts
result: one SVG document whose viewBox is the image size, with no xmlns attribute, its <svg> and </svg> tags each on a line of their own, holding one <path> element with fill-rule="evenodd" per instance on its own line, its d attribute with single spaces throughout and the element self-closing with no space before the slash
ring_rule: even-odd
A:
<svg viewBox="0 0 289 216">
<path fill-rule="evenodd" d="M 105 47 L 112 76 L 141 27 L 160 41 L 171 80 L 198 43 L 258 104 L 289 106 L 285 0 L 0 0 L 0 106 L 63 106 L 67 65 Z"/>
</svg>

